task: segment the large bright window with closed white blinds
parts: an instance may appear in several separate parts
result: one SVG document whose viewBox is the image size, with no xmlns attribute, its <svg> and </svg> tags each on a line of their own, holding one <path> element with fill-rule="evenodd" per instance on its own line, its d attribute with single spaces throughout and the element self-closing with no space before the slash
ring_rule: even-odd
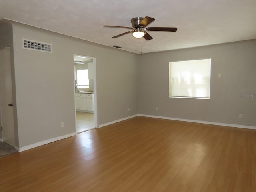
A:
<svg viewBox="0 0 256 192">
<path fill-rule="evenodd" d="M 210 99 L 211 59 L 169 62 L 169 97 Z"/>
</svg>

